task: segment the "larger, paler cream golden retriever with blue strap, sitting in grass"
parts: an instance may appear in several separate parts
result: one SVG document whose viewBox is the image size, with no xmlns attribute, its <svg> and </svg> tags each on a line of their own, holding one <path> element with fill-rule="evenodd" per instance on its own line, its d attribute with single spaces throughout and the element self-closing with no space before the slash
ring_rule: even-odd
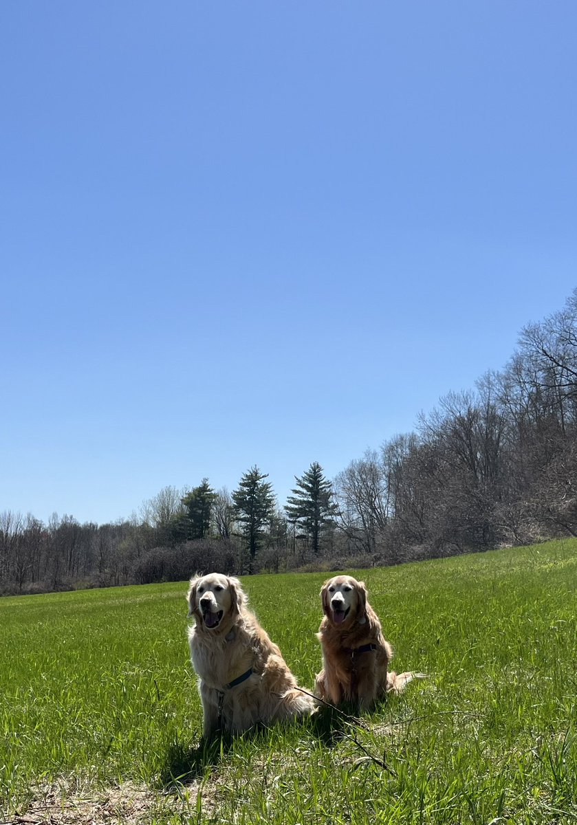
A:
<svg viewBox="0 0 577 825">
<path fill-rule="evenodd" d="M 196 624 L 188 631 L 202 701 L 202 733 L 240 733 L 257 723 L 315 710 L 277 645 L 248 610 L 237 578 L 210 573 L 191 579 L 187 595 Z"/>
</svg>

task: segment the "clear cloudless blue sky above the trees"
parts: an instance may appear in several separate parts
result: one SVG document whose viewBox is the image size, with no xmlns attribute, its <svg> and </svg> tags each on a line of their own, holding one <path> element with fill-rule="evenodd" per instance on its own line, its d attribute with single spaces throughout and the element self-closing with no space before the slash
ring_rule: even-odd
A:
<svg viewBox="0 0 577 825">
<path fill-rule="evenodd" d="M 0 511 L 279 503 L 577 285 L 575 2 L 0 5 Z"/>
</svg>

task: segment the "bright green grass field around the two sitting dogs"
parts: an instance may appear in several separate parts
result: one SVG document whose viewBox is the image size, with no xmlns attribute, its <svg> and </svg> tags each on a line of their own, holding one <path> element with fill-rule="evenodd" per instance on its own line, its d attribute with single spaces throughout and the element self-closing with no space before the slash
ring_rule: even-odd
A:
<svg viewBox="0 0 577 825">
<path fill-rule="evenodd" d="M 351 572 L 428 680 L 209 751 L 186 583 L 1 599 L 0 821 L 575 823 L 577 540 Z M 323 580 L 244 579 L 305 687 Z"/>
</svg>

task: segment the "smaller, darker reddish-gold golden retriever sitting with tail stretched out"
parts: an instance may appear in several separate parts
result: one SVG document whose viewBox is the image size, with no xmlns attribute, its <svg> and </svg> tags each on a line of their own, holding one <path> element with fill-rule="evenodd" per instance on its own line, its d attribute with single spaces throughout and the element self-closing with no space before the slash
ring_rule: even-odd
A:
<svg viewBox="0 0 577 825">
<path fill-rule="evenodd" d="M 324 619 L 320 644 L 324 668 L 316 676 L 316 694 L 340 705 L 372 705 L 385 693 L 400 693 L 423 673 L 388 670 L 392 648 L 382 634 L 381 622 L 367 601 L 367 587 L 352 576 L 335 576 L 320 591 Z"/>
</svg>

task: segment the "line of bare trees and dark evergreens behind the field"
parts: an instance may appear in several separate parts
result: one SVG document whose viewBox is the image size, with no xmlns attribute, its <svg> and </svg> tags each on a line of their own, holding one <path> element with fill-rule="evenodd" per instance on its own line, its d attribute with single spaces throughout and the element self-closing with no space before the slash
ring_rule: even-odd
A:
<svg viewBox="0 0 577 825">
<path fill-rule="evenodd" d="M 523 328 L 501 371 L 329 480 L 313 461 L 284 507 L 253 466 L 232 493 L 167 487 L 130 520 L 0 514 L 0 592 L 321 569 L 577 536 L 577 290 Z"/>
</svg>

